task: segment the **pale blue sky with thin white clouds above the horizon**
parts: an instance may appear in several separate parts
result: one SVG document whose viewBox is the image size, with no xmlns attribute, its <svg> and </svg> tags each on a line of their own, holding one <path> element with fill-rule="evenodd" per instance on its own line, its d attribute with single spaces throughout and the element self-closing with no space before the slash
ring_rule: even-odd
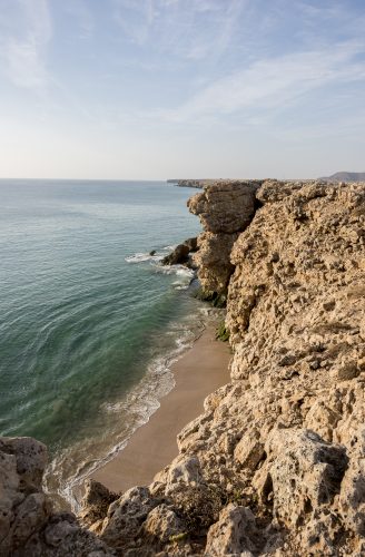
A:
<svg viewBox="0 0 365 557">
<path fill-rule="evenodd" d="M 0 177 L 365 170 L 364 0 L 0 0 Z"/>
</svg>

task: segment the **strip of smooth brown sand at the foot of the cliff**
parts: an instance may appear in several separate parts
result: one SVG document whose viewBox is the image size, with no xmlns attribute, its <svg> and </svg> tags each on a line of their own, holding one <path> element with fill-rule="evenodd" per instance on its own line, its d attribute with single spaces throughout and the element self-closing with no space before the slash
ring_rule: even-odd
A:
<svg viewBox="0 0 365 557">
<path fill-rule="evenodd" d="M 209 324 L 172 365 L 176 385 L 161 399 L 160 408 L 135 432 L 127 447 L 91 477 L 116 492 L 150 483 L 178 455 L 176 437 L 203 412 L 204 399 L 229 381 L 229 359 L 228 343 L 217 341 L 215 326 Z"/>
</svg>

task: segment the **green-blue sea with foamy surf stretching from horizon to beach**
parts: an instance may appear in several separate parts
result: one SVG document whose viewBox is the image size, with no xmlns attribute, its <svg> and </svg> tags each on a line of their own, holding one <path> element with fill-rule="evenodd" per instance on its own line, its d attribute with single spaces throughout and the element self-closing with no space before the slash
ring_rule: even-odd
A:
<svg viewBox="0 0 365 557">
<path fill-rule="evenodd" d="M 157 410 L 204 329 L 193 272 L 160 263 L 200 231 L 194 194 L 0 180 L 0 434 L 47 444 L 45 485 L 60 506 L 76 508 L 77 486 Z"/>
</svg>

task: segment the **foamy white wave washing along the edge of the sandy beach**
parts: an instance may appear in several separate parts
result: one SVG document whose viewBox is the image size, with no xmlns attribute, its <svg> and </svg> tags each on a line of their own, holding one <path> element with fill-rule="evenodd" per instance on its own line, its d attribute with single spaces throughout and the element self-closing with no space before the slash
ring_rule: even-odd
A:
<svg viewBox="0 0 365 557">
<path fill-rule="evenodd" d="M 204 314 L 195 311 L 185 322 L 174 322 L 166 331 L 169 348 L 158 345 L 144 378 L 119 401 L 106 401 L 100 412 L 106 416 L 109 429 L 98 437 L 90 436 L 58 453 L 47 468 L 45 488 L 57 494 L 60 501 L 68 501 L 73 511 L 80 508 L 83 481 L 109 462 L 128 443 L 130 437 L 160 405 L 160 399 L 175 385 L 172 364 L 193 345 L 205 328 Z M 108 418 L 109 417 L 109 418 Z M 85 456 L 88 459 L 85 459 Z M 75 462 L 78 462 L 75 468 Z"/>
</svg>

